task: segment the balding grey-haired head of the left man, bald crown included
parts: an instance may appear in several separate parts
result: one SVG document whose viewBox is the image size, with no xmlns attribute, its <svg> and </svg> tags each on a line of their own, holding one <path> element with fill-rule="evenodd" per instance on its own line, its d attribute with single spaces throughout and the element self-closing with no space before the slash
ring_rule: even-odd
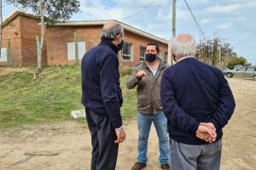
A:
<svg viewBox="0 0 256 170">
<path fill-rule="evenodd" d="M 102 38 L 108 39 L 113 42 L 118 35 L 124 36 L 124 28 L 119 22 L 115 20 L 109 20 L 102 28 Z"/>
</svg>

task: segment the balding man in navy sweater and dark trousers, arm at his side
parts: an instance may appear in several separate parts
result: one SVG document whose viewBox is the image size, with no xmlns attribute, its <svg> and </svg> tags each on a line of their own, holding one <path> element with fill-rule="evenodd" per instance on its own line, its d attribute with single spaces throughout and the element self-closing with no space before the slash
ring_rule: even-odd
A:
<svg viewBox="0 0 256 170">
<path fill-rule="evenodd" d="M 119 59 L 124 28 L 108 21 L 102 28 L 102 42 L 82 59 L 82 104 L 90 129 L 91 170 L 114 170 L 119 143 L 125 140 L 120 107 L 123 104 L 119 81 Z"/>
</svg>

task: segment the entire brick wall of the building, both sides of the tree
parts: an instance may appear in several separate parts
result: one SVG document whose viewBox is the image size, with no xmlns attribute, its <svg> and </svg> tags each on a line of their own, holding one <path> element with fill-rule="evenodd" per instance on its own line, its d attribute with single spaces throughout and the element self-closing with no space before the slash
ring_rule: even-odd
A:
<svg viewBox="0 0 256 170">
<path fill-rule="evenodd" d="M 74 65 L 75 59 L 68 59 L 68 42 L 75 42 L 74 32 L 78 33 L 78 41 L 85 41 L 85 52 L 95 47 L 101 42 L 102 26 L 47 26 L 45 27 L 43 65 Z M 18 15 L 11 20 L 8 26 L 3 27 L 2 48 L 8 48 L 10 39 L 10 49 L 12 65 L 37 65 L 38 49 L 36 36 L 41 38 L 41 26 L 38 19 Z M 132 43 L 132 59 L 122 59 L 119 51 L 119 62 L 121 65 L 134 67 L 141 63 L 140 47 L 146 47 L 148 42 L 155 42 L 152 39 L 143 37 L 125 30 L 125 42 Z M 161 52 L 168 51 L 168 45 L 157 42 Z M 81 60 L 79 60 L 79 63 Z M 9 65 L 9 54 L 7 62 L 0 62 L 0 65 Z"/>
</svg>

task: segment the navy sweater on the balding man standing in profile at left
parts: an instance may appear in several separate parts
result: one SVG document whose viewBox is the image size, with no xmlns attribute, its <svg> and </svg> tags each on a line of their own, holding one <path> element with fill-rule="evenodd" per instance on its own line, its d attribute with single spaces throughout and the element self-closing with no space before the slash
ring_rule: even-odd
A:
<svg viewBox="0 0 256 170">
<path fill-rule="evenodd" d="M 114 128 L 122 126 L 120 107 L 123 104 L 119 82 L 118 48 L 102 39 L 82 59 L 81 103 L 98 115 L 109 116 Z"/>
</svg>

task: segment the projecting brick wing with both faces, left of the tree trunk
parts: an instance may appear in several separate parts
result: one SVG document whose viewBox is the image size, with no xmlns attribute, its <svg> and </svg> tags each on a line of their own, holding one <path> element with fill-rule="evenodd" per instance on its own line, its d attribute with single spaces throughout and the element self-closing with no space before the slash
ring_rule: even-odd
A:
<svg viewBox="0 0 256 170">
<path fill-rule="evenodd" d="M 15 32 L 18 34 L 16 35 Z M 45 29 L 45 34 L 47 31 Z M 37 65 L 38 51 L 36 36 L 41 36 L 41 26 L 38 20 L 25 15 L 18 15 L 10 21 L 9 26 L 3 27 L 2 48 L 8 49 L 8 39 L 10 39 L 10 50 L 12 65 Z M 44 41 L 43 65 L 47 65 L 47 42 Z M 0 62 L 0 65 L 9 65 L 8 62 Z"/>
</svg>

